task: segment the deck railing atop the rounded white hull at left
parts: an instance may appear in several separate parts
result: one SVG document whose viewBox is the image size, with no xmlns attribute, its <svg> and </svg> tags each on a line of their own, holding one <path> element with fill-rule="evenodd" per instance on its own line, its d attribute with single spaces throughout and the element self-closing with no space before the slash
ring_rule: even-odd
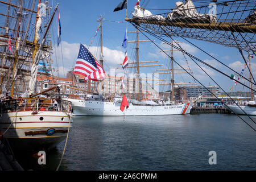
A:
<svg viewBox="0 0 256 182">
<path fill-rule="evenodd" d="M 60 100 L 59 104 L 53 102 L 55 98 L 15 98 L 1 101 L 1 113 L 12 111 L 64 111 L 72 112 L 72 103 L 66 100 Z"/>
</svg>

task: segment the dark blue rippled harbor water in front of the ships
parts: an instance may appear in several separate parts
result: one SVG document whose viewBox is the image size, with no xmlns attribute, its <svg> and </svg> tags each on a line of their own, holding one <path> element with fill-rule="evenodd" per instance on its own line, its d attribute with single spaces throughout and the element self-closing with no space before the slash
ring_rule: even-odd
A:
<svg viewBox="0 0 256 182">
<path fill-rule="evenodd" d="M 46 153 L 46 164 L 16 156 L 26 170 L 55 170 L 64 145 Z M 76 116 L 59 170 L 256 170 L 255 148 L 255 131 L 233 114 Z"/>
</svg>

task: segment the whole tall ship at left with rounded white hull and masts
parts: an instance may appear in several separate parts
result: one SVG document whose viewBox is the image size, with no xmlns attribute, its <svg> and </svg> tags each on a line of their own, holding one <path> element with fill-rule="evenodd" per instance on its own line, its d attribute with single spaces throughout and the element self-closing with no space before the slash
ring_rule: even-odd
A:
<svg viewBox="0 0 256 182">
<path fill-rule="evenodd" d="M 50 150 L 67 137 L 69 128 L 72 127 L 71 102 L 57 98 L 59 100 L 57 106 L 53 104 L 56 94 L 60 94 L 59 85 L 56 84 L 42 93 L 35 93 L 38 63 L 39 60 L 44 59 L 42 53 L 50 53 L 51 46 L 46 44 L 46 37 L 58 5 L 53 10 L 47 26 L 42 28 L 45 32 L 39 43 L 42 16 L 39 13 L 40 6 L 37 11 L 34 11 L 35 0 L 31 1 L 29 9 L 24 7 L 23 1 L 19 1 L 19 6 L 10 2 L 1 1 L 0 3 L 6 5 L 8 9 L 8 14 L 5 15 L 6 27 L 2 27 L 2 30 L 6 30 L 6 34 L 0 35 L 0 42 L 5 42 L 8 37 L 10 39 L 7 30 L 16 32 L 15 38 L 11 38 L 15 42 L 14 55 L 8 52 L 7 46 L 10 44 L 5 45 L 3 48 L 5 51 L 1 53 L 3 58 L 1 71 L 4 73 L 1 75 L 1 94 L 2 96 L 5 94 L 6 97 L 1 98 L 0 133 L 2 137 L 9 140 L 15 151 Z M 38 4 L 40 3 L 42 5 L 39 0 Z M 10 16 L 10 7 L 19 12 L 17 17 Z M 25 17 L 28 13 L 29 18 Z M 31 42 L 28 40 L 28 35 L 31 31 L 31 19 L 35 14 L 35 36 Z M 16 19 L 18 26 L 15 28 L 8 23 L 10 17 Z M 25 25 L 27 25 L 26 31 L 22 30 Z M 27 78 L 30 78 L 29 84 Z M 22 97 L 19 91 L 24 92 L 25 88 L 28 88 L 29 93 L 28 96 L 23 94 Z M 9 92 L 10 97 L 7 97 Z M 41 97 L 44 93 L 50 94 L 51 97 Z"/>
</svg>

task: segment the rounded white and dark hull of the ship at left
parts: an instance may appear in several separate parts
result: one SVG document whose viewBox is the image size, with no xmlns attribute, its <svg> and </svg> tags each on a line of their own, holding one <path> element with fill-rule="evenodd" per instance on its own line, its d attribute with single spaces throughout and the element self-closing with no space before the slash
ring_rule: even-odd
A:
<svg viewBox="0 0 256 182">
<path fill-rule="evenodd" d="M 0 121 L 0 131 L 15 151 L 51 150 L 71 127 L 72 114 L 64 111 L 13 111 L 2 113 Z"/>
</svg>

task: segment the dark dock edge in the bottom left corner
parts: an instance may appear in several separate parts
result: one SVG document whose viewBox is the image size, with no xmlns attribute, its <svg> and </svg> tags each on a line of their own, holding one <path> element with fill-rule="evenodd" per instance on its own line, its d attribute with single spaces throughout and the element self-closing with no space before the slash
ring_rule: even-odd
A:
<svg viewBox="0 0 256 182">
<path fill-rule="evenodd" d="M 16 161 L 10 147 L 0 140 L 0 171 L 24 171 L 20 164 Z"/>
</svg>

